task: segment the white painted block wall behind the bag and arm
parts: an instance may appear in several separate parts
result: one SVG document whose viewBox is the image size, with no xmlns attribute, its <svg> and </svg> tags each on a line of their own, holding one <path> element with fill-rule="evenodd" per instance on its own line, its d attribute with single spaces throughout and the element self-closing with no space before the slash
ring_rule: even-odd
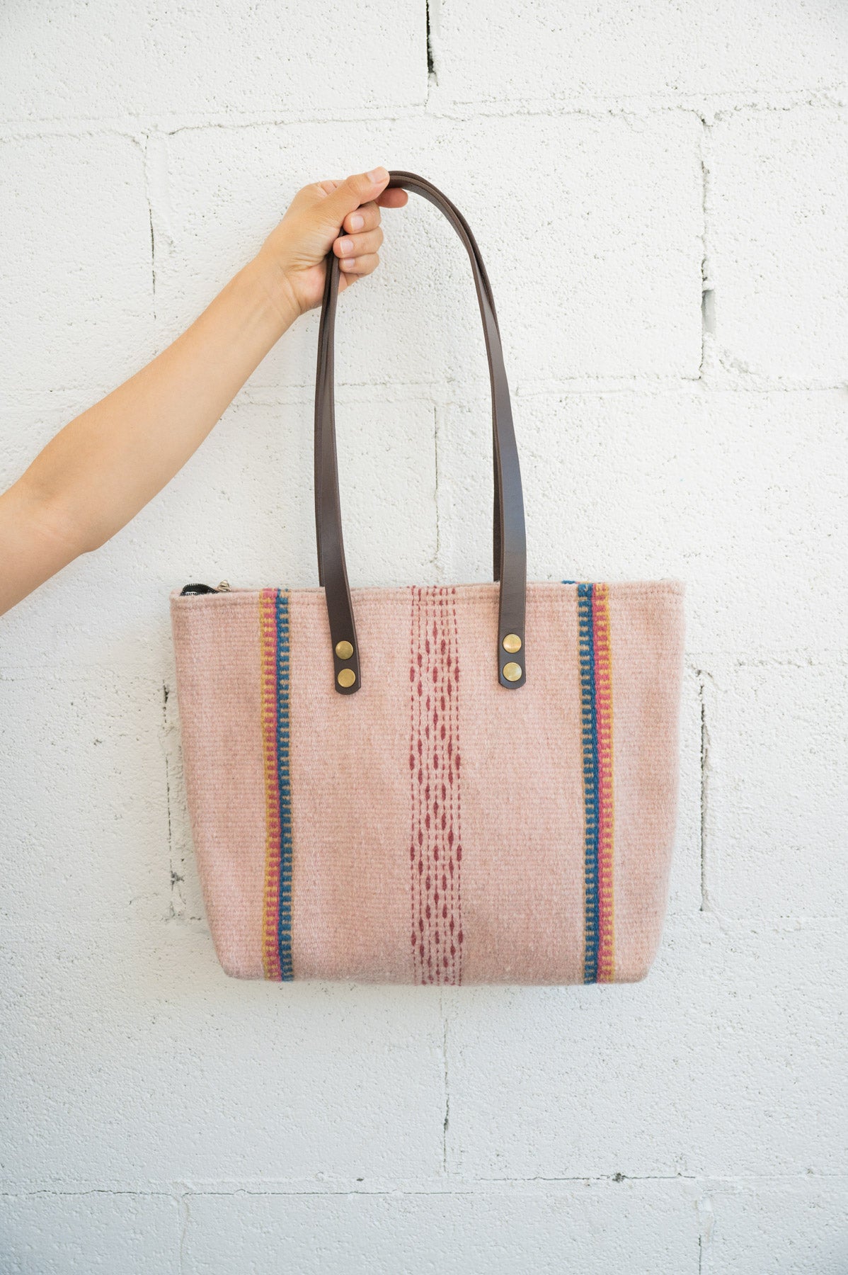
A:
<svg viewBox="0 0 848 1275">
<path fill-rule="evenodd" d="M 168 491 L 0 622 L 0 1270 L 844 1272 L 848 6 L 37 0 L 3 8 L 0 64 L 0 482 L 294 190 L 386 163 L 480 240 L 531 576 L 689 589 L 646 983 L 228 980 L 167 594 L 316 583 L 302 320 Z M 339 323 L 351 576 L 485 579 L 467 264 L 427 205 L 386 227 Z"/>
</svg>

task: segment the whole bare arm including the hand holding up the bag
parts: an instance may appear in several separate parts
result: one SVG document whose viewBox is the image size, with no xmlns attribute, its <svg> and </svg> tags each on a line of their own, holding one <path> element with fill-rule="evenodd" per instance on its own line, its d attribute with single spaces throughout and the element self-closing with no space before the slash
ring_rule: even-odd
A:
<svg viewBox="0 0 848 1275">
<path fill-rule="evenodd" d="M 286 328 L 320 303 L 331 245 L 343 287 L 377 266 L 379 207 L 406 203 L 404 191 L 385 191 L 387 180 L 378 168 L 373 180 L 298 191 L 191 328 L 66 425 L 0 496 L 0 615 L 108 541 L 173 478 Z"/>
</svg>

